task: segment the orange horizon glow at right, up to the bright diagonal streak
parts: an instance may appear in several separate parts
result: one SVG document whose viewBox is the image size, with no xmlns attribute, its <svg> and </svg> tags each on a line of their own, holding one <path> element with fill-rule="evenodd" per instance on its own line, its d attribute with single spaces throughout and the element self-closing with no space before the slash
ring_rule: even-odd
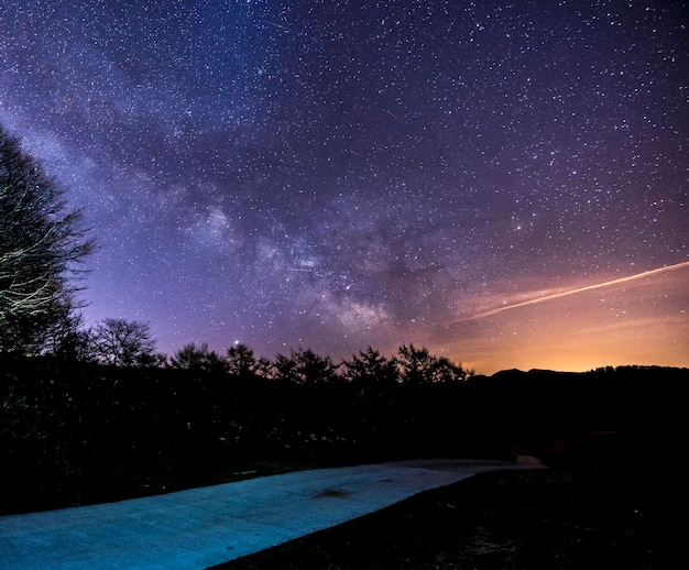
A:
<svg viewBox="0 0 689 570">
<path fill-rule="evenodd" d="M 689 366 L 689 262 L 502 299 L 499 307 L 449 322 L 433 348 L 442 347 L 480 374 Z"/>
</svg>

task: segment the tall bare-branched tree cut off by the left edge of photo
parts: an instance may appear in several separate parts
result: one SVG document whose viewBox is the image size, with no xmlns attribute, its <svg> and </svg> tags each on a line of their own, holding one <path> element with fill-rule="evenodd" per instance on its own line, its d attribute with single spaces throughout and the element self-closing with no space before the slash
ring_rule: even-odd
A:
<svg viewBox="0 0 689 570">
<path fill-rule="evenodd" d="M 76 308 L 70 282 L 92 250 L 81 212 L 0 127 L 0 352 L 43 350 Z"/>
</svg>

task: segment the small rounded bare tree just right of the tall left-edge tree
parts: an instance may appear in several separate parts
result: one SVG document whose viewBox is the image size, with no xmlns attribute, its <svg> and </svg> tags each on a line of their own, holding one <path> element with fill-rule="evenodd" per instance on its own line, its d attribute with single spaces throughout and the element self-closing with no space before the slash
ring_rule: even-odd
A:
<svg viewBox="0 0 689 570">
<path fill-rule="evenodd" d="M 106 319 L 94 332 L 96 358 L 116 366 L 150 366 L 156 363 L 155 341 L 146 322 Z"/>
</svg>

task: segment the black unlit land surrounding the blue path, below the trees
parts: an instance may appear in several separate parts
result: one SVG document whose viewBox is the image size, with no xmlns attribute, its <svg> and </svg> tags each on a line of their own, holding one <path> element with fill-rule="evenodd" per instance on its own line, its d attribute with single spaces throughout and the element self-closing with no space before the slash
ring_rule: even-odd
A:
<svg viewBox="0 0 689 570">
<path fill-rule="evenodd" d="M 315 467 L 534 454 L 229 569 L 689 568 L 687 369 L 305 385 L 0 361 L 0 515 Z M 595 434 L 595 437 L 589 437 Z"/>
</svg>

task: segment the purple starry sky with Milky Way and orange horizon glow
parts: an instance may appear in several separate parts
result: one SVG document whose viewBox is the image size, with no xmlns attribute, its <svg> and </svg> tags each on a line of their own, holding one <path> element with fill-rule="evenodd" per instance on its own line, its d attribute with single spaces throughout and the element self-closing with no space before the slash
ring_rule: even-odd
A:
<svg viewBox="0 0 689 570">
<path fill-rule="evenodd" d="M 0 122 L 158 350 L 689 365 L 689 9 L 0 0 Z"/>
</svg>

